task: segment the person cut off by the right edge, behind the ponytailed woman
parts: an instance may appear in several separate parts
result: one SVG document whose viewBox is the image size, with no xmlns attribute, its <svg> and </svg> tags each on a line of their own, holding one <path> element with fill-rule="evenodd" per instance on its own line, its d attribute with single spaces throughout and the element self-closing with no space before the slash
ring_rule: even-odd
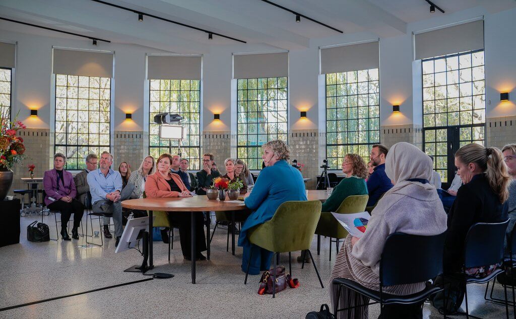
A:
<svg viewBox="0 0 516 319">
<path fill-rule="evenodd" d="M 509 198 L 507 198 L 507 211 L 510 218 L 509 226 L 507 226 L 507 234 L 509 235 L 516 224 L 516 144 L 505 145 L 502 149 L 505 164 L 507 165 L 507 173 L 512 177 L 509 185 Z M 505 238 L 505 257 L 510 258 L 507 248 L 507 236 Z M 512 248 L 514 260 L 516 260 L 516 247 Z"/>
</svg>

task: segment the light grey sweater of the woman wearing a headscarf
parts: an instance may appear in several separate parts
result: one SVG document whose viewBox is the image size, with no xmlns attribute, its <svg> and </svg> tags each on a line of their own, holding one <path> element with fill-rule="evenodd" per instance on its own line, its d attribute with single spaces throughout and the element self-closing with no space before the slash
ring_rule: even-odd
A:
<svg viewBox="0 0 516 319">
<path fill-rule="evenodd" d="M 379 275 L 380 256 L 390 234 L 432 236 L 446 230 L 446 220 L 443 204 L 433 185 L 409 183 L 392 193 L 385 193 L 379 200 L 364 236 L 353 246 L 352 255 Z"/>
</svg>

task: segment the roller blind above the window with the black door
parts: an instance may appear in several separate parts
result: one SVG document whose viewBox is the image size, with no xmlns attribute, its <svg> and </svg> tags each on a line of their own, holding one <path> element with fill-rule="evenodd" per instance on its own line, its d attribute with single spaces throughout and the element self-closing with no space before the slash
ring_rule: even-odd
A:
<svg viewBox="0 0 516 319">
<path fill-rule="evenodd" d="M 483 48 L 483 20 L 414 35 L 415 59 Z"/>
</svg>

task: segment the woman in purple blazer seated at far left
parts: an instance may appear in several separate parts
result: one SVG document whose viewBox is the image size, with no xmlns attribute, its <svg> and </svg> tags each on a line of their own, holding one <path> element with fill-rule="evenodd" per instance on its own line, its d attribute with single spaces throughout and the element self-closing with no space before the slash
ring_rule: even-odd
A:
<svg viewBox="0 0 516 319">
<path fill-rule="evenodd" d="M 72 173 L 63 170 L 66 156 L 61 153 L 54 155 L 54 169 L 45 172 L 43 188 L 45 189 L 45 205 L 51 210 L 61 212 L 61 237 L 71 240 L 68 236 L 67 225 L 73 216 L 72 238 L 79 239 L 77 228 L 83 219 L 84 205 L 75 199 L 76 190 Z"/>
</svg>

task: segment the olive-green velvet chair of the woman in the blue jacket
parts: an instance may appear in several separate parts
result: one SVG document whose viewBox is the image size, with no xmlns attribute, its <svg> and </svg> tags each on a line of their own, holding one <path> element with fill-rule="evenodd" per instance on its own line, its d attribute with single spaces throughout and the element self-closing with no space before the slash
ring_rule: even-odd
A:
<svg viewBox="0 0 516 319">
<path fill-rule="evenodd" d="M 273 269 L 276 269 L 277 259 L 276 255 L 280 253 L 288 253 L 288 270 L 292 274 L 291 252 L 297 250 L 307 250 L 312 264 L 315 268 L 315 273 L 319 278 L 321 287 L 321 277 L 317 271 L 317 267 L 310 253 L 310 244 L 314 237 L 315 227 L 319 220 L 322 204 L 319 200 L 310 200 L 302 202 L 285 202 L 278 207 L 272 219 L 264 224 L 256 225 L 248 230 L 248 238 L 251 244 L 255 244 L 264 249 L 272 251 L 274 255 L 272 260 L 274 263 Z M 249 256 L 249 260 L 252 258 Z M 304 267 L 304 262 L 301 268 Z M 246 279 L 249 273 L 249 263 L 247 264 Z M 272 274 L 274 276 L 274 274 Z M 274 297 L 274 294 L 272 295 Z"/>
</svg>

